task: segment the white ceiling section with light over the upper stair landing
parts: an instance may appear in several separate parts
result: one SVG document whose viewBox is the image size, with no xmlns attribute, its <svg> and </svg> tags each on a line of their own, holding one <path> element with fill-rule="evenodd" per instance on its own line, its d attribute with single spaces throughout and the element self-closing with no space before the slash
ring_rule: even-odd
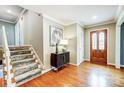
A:
<svg viewBox="0 0 124 93">
<path fill-rule="evenodd" d="M 0 5 L 0 20 L 14 23 L 23 9 L 16 5 Z"/>
</svg>

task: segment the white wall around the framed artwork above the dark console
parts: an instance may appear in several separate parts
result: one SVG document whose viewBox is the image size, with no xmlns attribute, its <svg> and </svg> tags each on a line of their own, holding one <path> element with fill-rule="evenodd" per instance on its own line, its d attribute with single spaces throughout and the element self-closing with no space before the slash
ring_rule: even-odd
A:
<svg viewBox="0 0 124 93">
<path fill-rule="evenodd" d="M 62 25 L 43 17 L 43 62 L 46 69 L 51 68 L 50 55 L 55 52 L 55 47 L 50 46 L 50 26 L 64 28 Z"/>
</svg>

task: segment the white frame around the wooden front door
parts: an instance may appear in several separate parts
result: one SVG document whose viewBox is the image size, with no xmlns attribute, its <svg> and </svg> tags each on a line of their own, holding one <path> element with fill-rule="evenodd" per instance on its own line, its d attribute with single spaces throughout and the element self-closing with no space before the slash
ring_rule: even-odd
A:
<svg viewBox="0 0 124 93">
<path fill-rule="evenodd" d="M 110 60 L 109 60 L 109 28 L 96 28 L 96 29 L 91 29 L 90 31 L 89 31 L 89 40 L 90 40 L 90 32 L 93 32 L 93 31 L 96 31 L 96 30 L 104 30 L 104 29 L 106 29 L 107 30 L 107 64 L 111 64 L 111 63 L 109 63 L 110 62 Z M 91 41 L 90 41 L 91 42 Z M 89 42 L 89 44 L 90 44 L 90 42 Z M 89 46 L 89 52 L 90 52 L 90 46 Z M 89 53 L 90 54 L 90 53 Z M 90 55 L 89 55 L 89 60 L 90 60 Z"/>
</svg>

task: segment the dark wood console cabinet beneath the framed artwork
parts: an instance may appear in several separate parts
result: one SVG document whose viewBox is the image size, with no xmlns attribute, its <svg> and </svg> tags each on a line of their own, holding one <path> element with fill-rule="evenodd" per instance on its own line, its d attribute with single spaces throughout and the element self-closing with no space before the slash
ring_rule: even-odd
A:
<svg viewBox="0 0 124 93">
<path fill-rule="evenodd" d="M 61 53 L 51 53 L 51 66 L 58 68 L 68 64 L 70 61 L 70 53 L 69 52 L 61 52 Z"/>
</svg>

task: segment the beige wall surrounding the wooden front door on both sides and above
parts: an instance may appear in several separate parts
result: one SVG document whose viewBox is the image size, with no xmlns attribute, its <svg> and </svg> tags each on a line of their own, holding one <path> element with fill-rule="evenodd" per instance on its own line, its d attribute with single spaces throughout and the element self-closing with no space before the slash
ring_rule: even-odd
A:
<svg viewBox="0 0 124 93">
<path fill-rule="evenodd" d="M 84 41 L 84 58 L 90 59 L 90 32 L 95 29 L 102 29 L 102 28 L 108 28 L 107 32 L 107 61 L 110 64 L 115 63 L 115 40 L 116 40 L 116 24 L 106 24 L 96 27 L 91 27 L 85 29 L 85 41 Z"/>
</svg>

